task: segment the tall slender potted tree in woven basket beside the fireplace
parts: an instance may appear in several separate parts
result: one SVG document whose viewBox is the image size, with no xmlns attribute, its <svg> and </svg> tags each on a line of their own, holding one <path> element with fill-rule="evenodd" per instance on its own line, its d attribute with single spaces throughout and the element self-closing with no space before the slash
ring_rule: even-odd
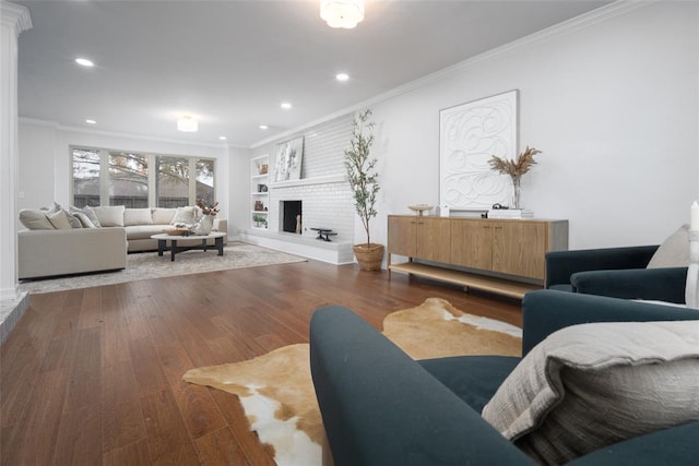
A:
<svg viewBox="0 0 699 466">
<path fill-rule="evenodd" d="M 374 144 L 374 122 L 369 121 L 371 109 L 366 109 L 356 116 L 352 122 L 351 148 L 345 151 L 344 165 L 354 195 L 354 207 L 362 219 L 367 234 L 367 242 L 354 246 L 354 255 L 363 271 L 381 270 L 383 260 L 383 244 L 371 242 L 369 222 L 376 217 L 376 195 L 379 192 L 379 174 L 376 171 L 376 158 L 369 153 Z"/>
</svg>

